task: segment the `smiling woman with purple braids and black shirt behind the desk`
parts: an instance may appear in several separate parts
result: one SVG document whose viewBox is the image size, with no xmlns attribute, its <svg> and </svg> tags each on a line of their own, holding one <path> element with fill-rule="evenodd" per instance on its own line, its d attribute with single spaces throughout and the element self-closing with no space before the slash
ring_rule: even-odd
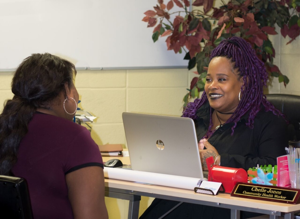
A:
<svg viewBox="0 0 300 219">
<path fill-rule="evenodd" d="M 249 43 L 232 37 L 212 51 L 205 92 L 184 109 L 196 126 L 203 169 L 213 156 L 221 166 L 248 170 L 277 165 L 288 145 L 284 115 L 266 100 L 268 74 Z M 174 210 L 172 208 L 176 207 Z M 230 218 L 230 209 L 155 199 L 143 218 Z M 242 212 L 241 218 L 258 216 Z"/>
</svg>

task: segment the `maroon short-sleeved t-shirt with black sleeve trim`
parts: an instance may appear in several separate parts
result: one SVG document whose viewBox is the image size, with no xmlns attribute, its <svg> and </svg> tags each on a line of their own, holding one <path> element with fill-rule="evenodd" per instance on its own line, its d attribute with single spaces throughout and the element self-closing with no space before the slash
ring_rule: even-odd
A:
<svg viewBox="0 0 300 219">
<path fill-rule="evenodd" d="M 28 129 L 12 172 L 28 182 L 35 219 L 73 218 L 65 175 L 103 168 L 98 145 L 85 127 L 48 114 L 35 113 Z"/>
</svg>

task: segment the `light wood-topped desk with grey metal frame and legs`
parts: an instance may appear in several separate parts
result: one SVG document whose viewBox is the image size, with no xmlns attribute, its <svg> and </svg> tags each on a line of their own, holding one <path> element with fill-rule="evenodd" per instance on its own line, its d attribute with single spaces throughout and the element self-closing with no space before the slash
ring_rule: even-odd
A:
<svg viewBox="0 0 300 219">
<path fill-rule="evenodd" d="M 104 157 L 104 161 L 110 159 L 112 159 L 112 157 Z M 129 164 L 128 157 L 120 158 L 120 160 L 125 164 Z M 300 211 L 300 204 L 292 205 L 244 199 L 232 197 L 225 193 L 219 193 L 218 195 L 213 196 L 195 193 L 193 190 L 158 185 L 145 185 L 108 178 L 105 178 L 105 196 L 129 200 L 128 218 L 138 218 L 141 196 L 230 208 L 231 219 L 239 219 L 240 211 L 269 214 L 270 219 L 278 219 L 280 215 L 284 216 L 284 219 L 293 219 L 294 212 Z"/>
</svg>

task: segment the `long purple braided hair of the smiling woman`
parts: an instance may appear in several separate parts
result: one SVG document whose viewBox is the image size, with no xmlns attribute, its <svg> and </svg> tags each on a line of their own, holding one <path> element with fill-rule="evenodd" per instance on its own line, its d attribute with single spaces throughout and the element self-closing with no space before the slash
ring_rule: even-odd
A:
<svg viewBox="0 0 300 219">
<path fill-rule="evenodd" d="M 233 68 L 238 69 L 238 75 L 243 80 L 241 101 L 232 116 L 226 121 L 226 123 L 235 123 L 232 126 L 232 134 L 236 123 L 247 112 L 249 112 L 249 117 L 246 125 L 253 128 L 254 117 L 259 112 L 261 104 L 265 107 L 265 111 L 272 111 L 275 115 L 284 117 L 279 110 L 266 100 L 263 94 L 263 87 L 267 86 L 268 73 L 266 72 L 264 63 L 258 59 L 250 43 L 247 43 L 240 37 L 228 38 L 221 41 L 211 52 L 210 59 L 214 57 L 226 57 L 232 63 Z M 196 119 L 197 109 L 206 102 L 208 102 L 208 99 L 206 93 L 203 92 L 201 98 L 195 99 L 194 102 L 190 102 L 187 105 L 184 109 L 183 117 Z M 208 130 L 211 127 L 212 122 L 210 122 Z"/>
</svg>

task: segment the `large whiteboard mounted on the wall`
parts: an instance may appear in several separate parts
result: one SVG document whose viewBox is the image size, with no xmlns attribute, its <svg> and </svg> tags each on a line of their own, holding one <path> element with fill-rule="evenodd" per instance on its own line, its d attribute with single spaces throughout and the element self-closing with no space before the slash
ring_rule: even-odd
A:
<svg viewBox="0 0 300 219">
<path fill-rule="evenodd" d="M 167 4 L 167 1 L 165 1 Z M 51 53 L 77 69 L 187 67 L 142 19 L 156 0 L 0 0 L 0 69 Z M 175 5 L 175 4 L 174 4 Z"/>
</svg>

